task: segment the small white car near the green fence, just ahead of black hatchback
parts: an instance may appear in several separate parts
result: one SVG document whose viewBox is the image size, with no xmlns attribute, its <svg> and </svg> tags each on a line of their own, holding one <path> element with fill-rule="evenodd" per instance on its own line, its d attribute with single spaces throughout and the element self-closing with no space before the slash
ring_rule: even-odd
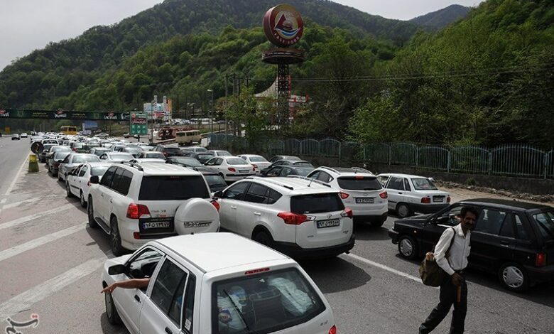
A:
<svg viewBox="0 0 554 334">
<path fill-rule="evenodd" d="M 406 174 L 379 174 L 389 193 L 389 209 L 404 218 L 415 212 L 433 213 L 450 205 L 450 194 L 438 190 L 430 178 Z"/>
</svg>

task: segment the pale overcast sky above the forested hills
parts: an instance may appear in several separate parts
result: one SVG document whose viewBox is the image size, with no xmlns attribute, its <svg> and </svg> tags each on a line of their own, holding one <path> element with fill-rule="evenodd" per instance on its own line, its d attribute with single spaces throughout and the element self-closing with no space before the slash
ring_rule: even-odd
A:
<svg viewBox="0 0 554 334">
<path fill-rule="evenodd" d="M 209 0 L 205 0 L 209 1 Z M 228 0 L 233 1 L 233 0 Z M 451 4 L 482 0 L 334 0 L 369 14 L 408 20 Z M 92 26 L 109 25 L 162 0 L 0 0 L 0 69 L 50 42 L 74 38 Z M 286 0 L 276 0 L 276 4 Z"/>
</svg>

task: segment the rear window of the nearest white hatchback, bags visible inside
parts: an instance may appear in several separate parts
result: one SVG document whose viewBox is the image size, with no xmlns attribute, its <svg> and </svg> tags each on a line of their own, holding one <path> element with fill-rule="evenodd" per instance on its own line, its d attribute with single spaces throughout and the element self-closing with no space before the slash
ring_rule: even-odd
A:
<svg viewBox="0 0 554 334">
<path fill-rule="evenodd" d="M 323 311 L 320 296 L 295 268 L 241 273 L 212 286 L 212 333 L 273 333 Z"/>
</svg>

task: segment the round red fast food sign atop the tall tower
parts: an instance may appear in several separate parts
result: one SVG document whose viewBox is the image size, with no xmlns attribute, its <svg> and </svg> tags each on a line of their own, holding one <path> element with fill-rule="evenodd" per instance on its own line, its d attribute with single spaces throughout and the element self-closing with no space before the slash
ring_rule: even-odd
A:
<svg viewBox="0 0 554 334">
<path fill-rule="evenodd" d="M 300 41 L 304 33 L 304 22 L 293 6 L 281 4 L 266 12 L 264 31 L 271 43 L 286 47 Z"/>
</svg>

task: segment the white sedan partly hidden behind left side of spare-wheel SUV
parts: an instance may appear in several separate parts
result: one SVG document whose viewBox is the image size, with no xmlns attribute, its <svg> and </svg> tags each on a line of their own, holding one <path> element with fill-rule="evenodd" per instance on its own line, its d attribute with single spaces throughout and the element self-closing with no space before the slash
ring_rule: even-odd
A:
<svg viewBox="0 0 554 334">
<path fill-rule="evenodd" d="M 112 166 L 112 163 L 89 162 L 77 166 L 77 168 L 67 174 L 67 180 L 65 180 L 67 197 L 77 196 L 80 198 L 81 206 L 87 208 L 87 200 L 85 198 L 89 198 L 90 177 L 98 176 L 102 178 L 109 166 Z"/>
</svg>

